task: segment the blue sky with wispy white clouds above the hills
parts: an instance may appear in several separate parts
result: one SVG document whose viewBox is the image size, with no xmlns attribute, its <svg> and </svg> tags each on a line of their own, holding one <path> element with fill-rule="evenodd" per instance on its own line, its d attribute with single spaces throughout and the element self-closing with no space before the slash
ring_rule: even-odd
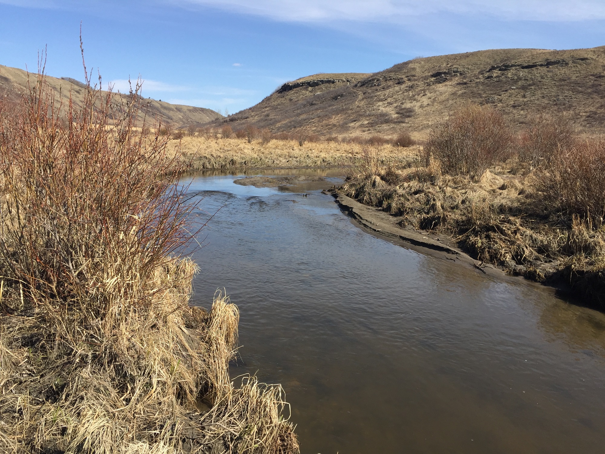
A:
<svg viewBox="0 0 605 454">
<path fill-rule="evenodd" d="M 416 56 L 605 45 L 605 0 L 0 0 L 0 64 L 235 113 L 285 81 Z"/>
</svg>

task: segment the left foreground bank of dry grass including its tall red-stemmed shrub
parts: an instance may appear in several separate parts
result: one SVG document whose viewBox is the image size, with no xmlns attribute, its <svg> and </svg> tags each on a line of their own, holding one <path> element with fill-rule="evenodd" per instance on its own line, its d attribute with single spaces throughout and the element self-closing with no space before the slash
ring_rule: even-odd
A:
<svg viewBox="0 0 605 454">
<path fill-rule="evenodd" d="M 0 451 L 298 452 L 281 387 L 229 378 L 237 307 L 188 304 L 197 206 L 137 94 L 53 99 L 0 104 Z"/>
</svg>

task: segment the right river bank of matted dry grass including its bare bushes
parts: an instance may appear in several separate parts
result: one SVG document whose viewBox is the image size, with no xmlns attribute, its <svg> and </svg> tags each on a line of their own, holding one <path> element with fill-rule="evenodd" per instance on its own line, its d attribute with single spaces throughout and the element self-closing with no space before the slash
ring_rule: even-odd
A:
<svg viewBox="0 0 605 454">
<path fill-rule="evenodd" d="M 471 110 L 434 127 L 424 166 L 368 156 L 339 191 L 401 226 L 446 235 L 477 260 L 566 283 L 605 308 L 605 142 L 572 137 L 546 117 L 517 141 L 495 111 Z"/>
</svg>

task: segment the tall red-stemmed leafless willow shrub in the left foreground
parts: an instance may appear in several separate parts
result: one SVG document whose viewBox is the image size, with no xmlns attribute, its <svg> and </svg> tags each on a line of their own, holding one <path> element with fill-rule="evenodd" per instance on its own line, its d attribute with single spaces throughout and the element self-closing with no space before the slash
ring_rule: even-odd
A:
<svg viewBox="0 0 605 454">
<path fill-rule="evenodd" d="M 24 304 L 57 317 L 77 306 L 82 323 L 146 304 L 148 278 L 191 238 L 169 137 L 134 128 L 139 88 L 88 83 L 82 105 L 64 106 L 38 74 L 20 102 L 0 104 L 0 266 Z"/>
</svg>

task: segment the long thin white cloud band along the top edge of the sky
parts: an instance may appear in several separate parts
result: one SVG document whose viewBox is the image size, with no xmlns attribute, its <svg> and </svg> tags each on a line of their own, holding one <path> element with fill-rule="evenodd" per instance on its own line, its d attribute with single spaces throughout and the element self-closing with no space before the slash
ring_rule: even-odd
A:
<svg viewBox="0 0 605 454">
<path fill-rule="evenodd" d="M 401 22 L 433 13 L 486 14 L 503 19 L 582 21 L 605 18 L 603 0 L 172 0 L 211 5 L 280 21 Z"/>
</svg>

